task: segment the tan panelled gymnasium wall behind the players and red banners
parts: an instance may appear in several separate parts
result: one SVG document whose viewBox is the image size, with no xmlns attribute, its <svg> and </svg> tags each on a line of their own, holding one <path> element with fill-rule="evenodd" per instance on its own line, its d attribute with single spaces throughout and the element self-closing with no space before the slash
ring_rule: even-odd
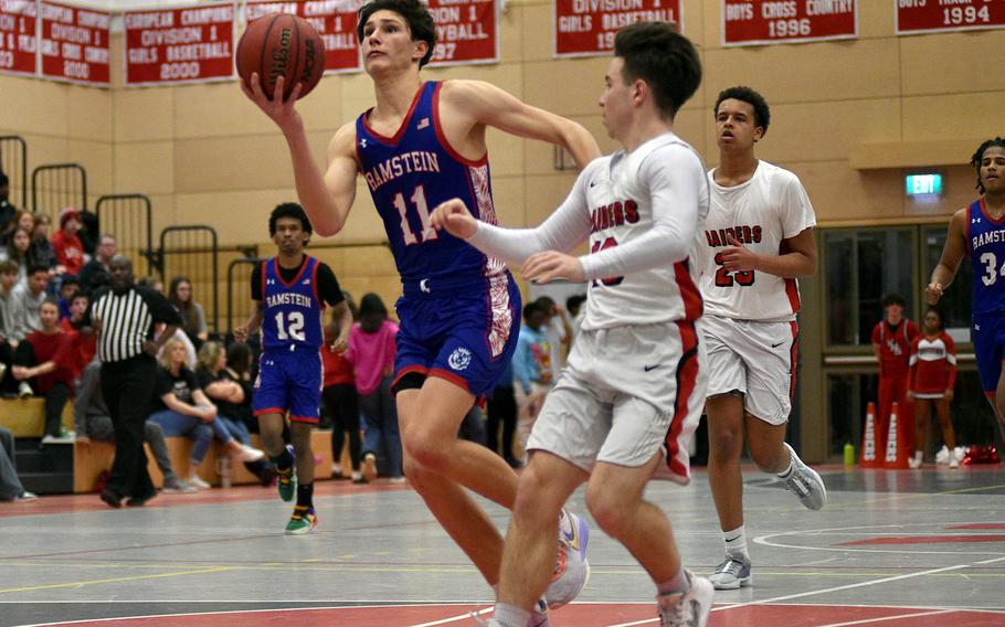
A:
<svg viewBox="0 0 1005 627">
<path fill-rule="evenodd" d="M 685 0 L 685 32 L 700 47 L 706 78 L 679 113 L 678 132 L 716 162 L 710 107 L 718 92 L 748 84 L 772 105 L 759 155 L 802 178 L 822 223 L 944 216 L 973 195 L 962 166 L 977 142 L 1002 134 L 1005 66 L 994 55 L 1005 31 L 896 38 L 887 0 L 860 0 L 859 39 L 723 49 L 720 0 Z M 511 0 L 501 19 L 501 63 L 425 71 L 426 78 L 479 78 L 584 124 L 614 148 L 596 98 L 607 59 L 554 60 L 551 3 Z M 113 87 L 96 89 L 0 76 L 0 132 L 25 136 L 31 167 L 78 161 L 94 195 L 151 196 L 155 227 L 205 223 L 224 244 L 267 244 L 265 217 L 294 198 L 285 142 L 234 82 L 123 88 L 121 36 L 113 43 Z M 306 98 L 319 162 L 336 128 L 371 106 L 366 75 L 335 75 Z M 550 146 L 491 132 L 497 211 L 505 224 L 537 224 L 563 198 L 571 172 L 556 171 Z M 941 166 L 942 202 L 902 195 L 907 168 Z M 383 238 L 364 187 L 345 232 L 331 242 Z M 267 248 L 266 248 L 267 251 Z M 326 251 L 353 291 L 398 293 L 384 248 Z"/>
</svg>

